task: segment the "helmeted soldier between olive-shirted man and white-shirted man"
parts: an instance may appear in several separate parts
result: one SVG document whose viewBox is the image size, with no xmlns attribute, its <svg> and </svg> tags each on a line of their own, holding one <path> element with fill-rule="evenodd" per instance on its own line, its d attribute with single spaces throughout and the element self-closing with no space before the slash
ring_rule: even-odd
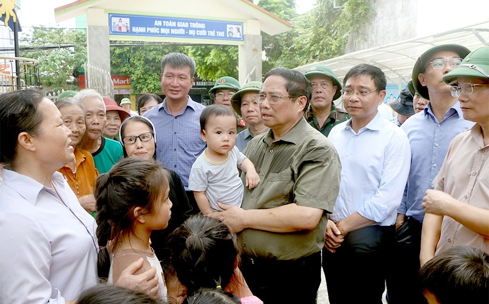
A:
<svg viewBox="0 0 489 304">
<path fill-rule="evenodd" d="M 341 96 L 341 83 L 326 65 L 317 64 L 304 73 L 312 85 L 311 105 L 306 119 L 313 128 L 324 136 L 330 134 L 333 126 L 350 119 L 346 111 L 337 109 L 333 100 Z"/>
</svg>

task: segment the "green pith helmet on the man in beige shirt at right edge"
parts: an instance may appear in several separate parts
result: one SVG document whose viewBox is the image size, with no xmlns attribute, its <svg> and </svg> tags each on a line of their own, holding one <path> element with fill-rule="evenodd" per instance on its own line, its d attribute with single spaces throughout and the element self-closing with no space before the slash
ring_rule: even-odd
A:
<svg viewBox="0 0 489 304">
<path fill-rule="evenodd" d="M 442 80 L 451 84 L 459 77 L 489 80 L 489 46 L 483 46 L 468 54 L 462 63 L 448 72 Z"/>
</svg>

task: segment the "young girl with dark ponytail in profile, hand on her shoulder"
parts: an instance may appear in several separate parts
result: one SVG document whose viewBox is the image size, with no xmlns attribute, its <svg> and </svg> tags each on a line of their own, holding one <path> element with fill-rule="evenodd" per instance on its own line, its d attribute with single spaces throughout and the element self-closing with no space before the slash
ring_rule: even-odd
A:
<svg viewBox="0 0 489 304">
<path fill-rule="evenodd" d="M 107 250 L 101 252 L 111 261 L 107 267 L 107 260 L 99 254 L 99 277 L 112 284 L 129 264 L 142 257 L 143 266 L 135 274 L 156 267 L 159 295 L 165 300 L 163 271 L 149 240 L 151 231 L 168 226 L 172 207 L 168 181 L 168 171 L 157 162 L 126 158 L 99 175 L 94 193 L 97 238 L 100 245 L 107 244 Z"/>
</svg>

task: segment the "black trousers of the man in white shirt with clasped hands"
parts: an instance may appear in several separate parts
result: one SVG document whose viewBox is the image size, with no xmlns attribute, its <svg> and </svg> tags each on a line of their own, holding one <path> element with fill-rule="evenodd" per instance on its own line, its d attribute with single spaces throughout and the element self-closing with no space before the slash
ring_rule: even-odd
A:
<svg viewBox="0 0 489 304">
<path fill-rule="evenodd" d="M 382 304 L 396 226 L 373 225 L 350 232 L 335 253 L 323 249 L 330 304 Z"/>
</svg>

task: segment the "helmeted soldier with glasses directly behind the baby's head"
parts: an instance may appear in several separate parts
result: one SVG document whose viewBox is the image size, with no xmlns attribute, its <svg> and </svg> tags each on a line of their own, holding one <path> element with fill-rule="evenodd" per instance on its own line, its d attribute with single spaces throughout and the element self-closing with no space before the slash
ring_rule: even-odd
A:
<svg viewBox="0 0 489 304">
<path fill-rule="evenodd" d="M 214 103 L 228 106 L 234 111 L 231 105 L 231 97 L 233 97 L 233 95 L 238 92 L 240 88 L 241 86 L 239 81 L 230 76 L 223 76 L 218 79 L 216 84 L 214 84 L 214 86 L 209 90 L 209 95 L 214 99 Z M 236 115 L 238 116 L 236 126 L 238 127 L 238 133 L 240 133 L 246 129 L 246 125 L 243 117 L 238 114 Z"/>
</svg>

